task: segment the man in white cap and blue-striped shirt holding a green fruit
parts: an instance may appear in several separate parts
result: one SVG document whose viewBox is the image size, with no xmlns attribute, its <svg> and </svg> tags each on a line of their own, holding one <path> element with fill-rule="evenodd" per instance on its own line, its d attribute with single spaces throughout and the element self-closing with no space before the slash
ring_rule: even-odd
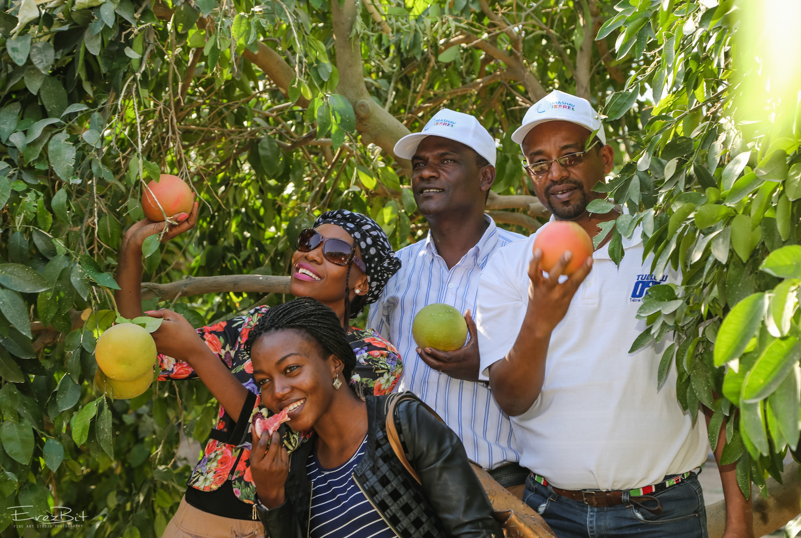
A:
<svg viewBox="0 0 801 538">
<path fill-rule="evenodd" d="M 475 311 L 479 275 L 500 247 L 525 239 L 484 213 L 495 180 L 495 141 L 476 118 L 443 109 L 395 154 L 412 160 L 412 191 L 429 235 L 397 257 L 400 271 L 371 305 L 368 327 L 389 339 L 404 360 L 398 390 L 413 391 L 457 433 L 468 457 L 509 487 L 525 483 L 509 417 L 478 381 Z M 417 312 L 447 303 L 465 314 L 469 339 L 457 351 L 420 349 L 412 336 Z M 522 488 L 522 487 L 521 487 Z M 520 488 L 520 489 L 521 489 Z"/>
</svg>

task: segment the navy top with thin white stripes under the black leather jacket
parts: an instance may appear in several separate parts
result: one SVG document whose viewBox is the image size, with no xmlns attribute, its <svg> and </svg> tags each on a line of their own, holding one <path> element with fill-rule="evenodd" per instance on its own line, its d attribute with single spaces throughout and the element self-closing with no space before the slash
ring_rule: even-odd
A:
<svg viewBox="0 0 801 538">
<path fill-rule="evenodd" d="M 396 538 L 353 478 L 353 469 L 367 448 L 367 437 L 350 460 L 326 469 L 316 451 L 308 456 L 306 470 L 312 480 L 311 538 Z"/>
</svg>

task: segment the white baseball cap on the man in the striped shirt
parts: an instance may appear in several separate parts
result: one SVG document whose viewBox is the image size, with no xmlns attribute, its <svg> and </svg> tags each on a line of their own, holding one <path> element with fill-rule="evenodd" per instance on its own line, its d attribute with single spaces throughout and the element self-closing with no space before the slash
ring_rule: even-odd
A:
<svg viewBox="0 0 801 538">
<path fill-rule="evenodd" d="M 443 108 L 429 119 L 420 133 L 412 133 L 398 140 L 395 144 L 395 155 L 401 159 L 412 159 L 417 146 L 427 136 L 441 136 L 443 139 L 461 142 L 495 166 L 495 139 L 470 114 Z"/>
</svg>

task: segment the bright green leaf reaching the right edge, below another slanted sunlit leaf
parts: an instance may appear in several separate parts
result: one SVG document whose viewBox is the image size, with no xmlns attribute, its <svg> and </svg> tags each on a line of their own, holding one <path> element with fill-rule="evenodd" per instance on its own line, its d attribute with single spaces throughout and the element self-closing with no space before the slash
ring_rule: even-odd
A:
<svg viewBox="0 0 801 538">
<path fill-rule="evenodd" d="M 743 382 L 743 400 L 753 404 L 771 395 L 801 358 L 801 343 L 787 337 L 774 340 L 751 367 Z"/>
</svg>

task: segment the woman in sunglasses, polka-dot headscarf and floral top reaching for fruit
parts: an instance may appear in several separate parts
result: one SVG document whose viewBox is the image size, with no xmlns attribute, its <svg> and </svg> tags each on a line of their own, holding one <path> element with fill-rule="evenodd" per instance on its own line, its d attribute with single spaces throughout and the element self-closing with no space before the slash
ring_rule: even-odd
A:
<svg viewBox="0 0 801 538">
<path fill-rule="evenodd" d="M 191 215 L 175 215 L 163 241 L 195 225 L 197 204 Z M 159 233 L 163 223 L 144 219 L 126 233 L 119 255 L 116 292 L 119 313 L 142 315 L 142 244 Z M 360 397 L 392 391 L 400 379 L 400 356 L 376 331 L 349 327 L 368 303 L 375 301 L 387 280 L 400 268 L 380 226 L 351 211 L 328 211 L 304 230 L 292 255 L 290 292 L 318 300 L 336 313 L 357 363 L 350 383 Z M 252 362 L 244 343 L 268 307 L 200 327 L 191 327 L 182 315 L 166 309 L 147 312 L 164 322 L 152 335 L 159 351 L 160 380 L 197 379 L 220 404 L 218 420 L 206 448 L 187 482 L 187 492 L 163 538 L 189 536 L 263 536 L 254 502 L 248 459 L 253 416 L 268 415 L 260 406 L 252 379 Z M 201 338 L 198 338 L 200 335 Z M 343 379 L 344 380 L 344 379 Z M 296 436 L 300 443 L 300 436 Z M 235 532 L 231 535 L 231 532 Z"/>
</svg>

